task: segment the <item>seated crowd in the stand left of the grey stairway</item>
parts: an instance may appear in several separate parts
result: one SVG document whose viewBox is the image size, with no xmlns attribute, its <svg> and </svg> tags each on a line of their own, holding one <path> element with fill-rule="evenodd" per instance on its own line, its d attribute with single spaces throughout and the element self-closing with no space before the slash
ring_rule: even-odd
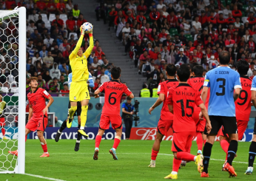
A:
<svg viewBox="0 0 256 181">
<path fill-rule="evenodd" d="M 81 24 L 87 22 L 78 9 L 78 4 L 73 4 L 71 0 L 0 0 L 0 10 L 13 10 L 17 6 L 27 9 L 27 78 L 38 77 L 38 87 L 47 89 L 48 92 L 68 93 L 68 86 L 64 85 L 68 74 L 72 72 L 69 55 L 80 36 Z M 18 86 L 18 72 L 15 71 L 18 67 L 16 26 L 17 18 L 6 19 L 0 24 L 1 68 L 7 68 L 1 72 L 0 82 L 1 86 L 7 88 L 7 92 L 11 86 Z M 87 34 L 82 47 L 84 51 L 89 47 Z M 112 64 L 107 60 L 98 40 L 95 40 L 95 47 L 87 60 L 88 70 L 95 82 L 95 87 L 90 88 L 90 92 L 94 92 L 101 83 L 111 79 L 109 69 Z M 10 75 L 16 79 L 16 85 L 10 85 Z M 27 85 L 27 92 L 29 91 L 30 87 Z"/>
</svg>

